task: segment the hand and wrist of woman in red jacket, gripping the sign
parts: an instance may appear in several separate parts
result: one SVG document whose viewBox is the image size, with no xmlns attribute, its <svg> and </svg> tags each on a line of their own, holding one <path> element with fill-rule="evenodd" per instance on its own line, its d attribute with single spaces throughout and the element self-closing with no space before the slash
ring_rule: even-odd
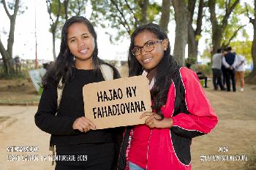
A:
<svg viewBox="0 0 256 170">
<path fill-rule="evenodd" d="M 148 125 L 149 128 L 171 128 L 173 126 L 173 119 L 164 117 L 161 120 L 161 116 L 154 112 L 145 112 L 140 116 L 140 119 L 148 116 L 145 120 L 145 124 Z"/>
</svg>

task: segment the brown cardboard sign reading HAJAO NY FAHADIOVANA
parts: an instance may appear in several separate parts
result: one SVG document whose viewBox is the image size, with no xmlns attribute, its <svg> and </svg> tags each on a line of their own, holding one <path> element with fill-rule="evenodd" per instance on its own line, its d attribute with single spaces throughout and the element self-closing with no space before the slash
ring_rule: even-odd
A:
<svg viewBox="0 0 256 170">
<path fill-rule="evenodd" d="M 83 86 L 85 115 L 97 129 L 145 123 L 144 112 L 152 112 L 148 79 L 126 77 Z"/>
</svg>

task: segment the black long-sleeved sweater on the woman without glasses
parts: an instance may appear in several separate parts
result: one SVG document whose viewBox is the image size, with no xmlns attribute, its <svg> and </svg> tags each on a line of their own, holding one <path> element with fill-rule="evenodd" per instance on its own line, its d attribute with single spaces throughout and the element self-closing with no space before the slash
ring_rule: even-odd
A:
<svg viewBox="0 0 256 170">
<path fill-rule="evenodd" d="M 57 112 L 57 83 L 49 80 L 39 101 L 35 123 L 51 136 L 50 145 L 86 144 L 113 142 L 116 139 L 116 128 L 109 128 L 86 133 L 72 129 L 78 117 L 84 116 L 83 85 L 104 80 L 102 74 L 95 76 L 93 70 L 75 69 L 72 80 L 65 83 Z M 118 72 L 114 79 L 118 78 Z M 57 114 L 56 114 L 57 112 Z"/>
</svg>

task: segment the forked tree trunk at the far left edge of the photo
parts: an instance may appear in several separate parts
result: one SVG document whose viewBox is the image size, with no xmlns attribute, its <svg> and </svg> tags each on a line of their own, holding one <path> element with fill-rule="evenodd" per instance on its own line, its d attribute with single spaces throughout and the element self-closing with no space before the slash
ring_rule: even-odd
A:
<svg viewBox="0 0 256 170">
<path fill-rule="evenodd" d="M 4 48 L 4 45 L 1 42 L 1 37 L 0 37 L 0 53 L 4 61 L 4 73 L 10 75 L 14 73 L 14 67 L 13 67 L 14 65 L 12 60 L 12 47 L 14 43 L 15 21 L 16 21 L 16 16 L 18 14 L 18 9 L 19 9 L 19 0 L 15 0 L 15 4 L 8 5 L 10 9 L 14 9 L 12 15 L 10 15 L 9 10 L 7 9 L 7 4 L 5 0 L 2 0 L 1 4 L 4 5 L 4 10 L 8 18 L 10 19 L 10 31 L 9 31 L 9 37 L 7 40 L 7 50 Z"/>
</svg>

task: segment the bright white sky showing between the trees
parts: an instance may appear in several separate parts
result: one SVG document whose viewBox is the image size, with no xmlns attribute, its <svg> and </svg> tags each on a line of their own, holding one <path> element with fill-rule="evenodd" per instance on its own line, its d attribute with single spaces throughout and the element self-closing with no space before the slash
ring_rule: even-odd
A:
<svg viewBox="0 0 256 170">
<path fill-rule="evenodd" d="M 28 7 L 22 15 L 18 15 L 15 25 L 15 43 L 13 46 L 13 56 L 19 55 L 23 59 L 35 58 L 35 18 L 37 18 L 37 58 L 39 60 L 53 61 L 52 53 L 52 34 L 50 34 L 50 18 L 47 12 L 45 1 L 42 0 L 21 0 L 23 5 Z M 241 0 L 243 3 L 252 0 Z M 12 12 L 10 12 L 12 14 Z M 89 18 L 89 8 L 87 8 L 86 17 Z M 4 47 L 7 47 L 7 39 L 9 34 L 10 20 L 4 12 L 4 7 L 0 4 L 0 20 L 3 25 L 0 25 L 1 41 Z M 248 23 L 248 18 L 242 20 L 243 23 Z M 175 39 L 175 22 L 169 23 L 169 40 L 170 46 L 173 50 Z M 127 61 L 127 50 L 129 48 L 129 39 L 124 39 L 118 42 L 118 45 L 111 45 L 109 36 L 105 34 L 108 28 L 95 28 L 97 31 L 97 42 L 99 48 L 99 58 L 106 60 L 121 60 Z M 3 32 L 7 34 L 3 34 Z M 113 31 L 113 30 L 111 30 Z M 252 24 L 246 26 L 246 31 L 249 34 L 249 39 L 252 40 L 253 28 Z M 200 53 L 206 48 L 205 39 L 203 35 L 199 42 L 198 49 Z M 56 54 L 59 53 L 60 41 L 56 42 Z"/>
</svg>

